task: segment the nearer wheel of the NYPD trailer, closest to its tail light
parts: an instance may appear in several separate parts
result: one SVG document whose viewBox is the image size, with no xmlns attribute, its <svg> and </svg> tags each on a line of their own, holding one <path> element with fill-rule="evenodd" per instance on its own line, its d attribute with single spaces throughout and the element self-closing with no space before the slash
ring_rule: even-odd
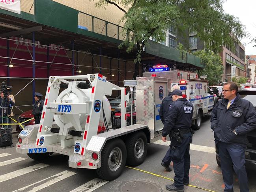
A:
<svg viewBox="0 0 256 192">
<path fill-rule="evenodd" d="M 96 173 L 101 179 L 111 181 L 121 175 L 125 162 L 124 142 L 119 138 L 109 140 L 101 151 L 101 167 L 96 170 Z"/>
</svg>

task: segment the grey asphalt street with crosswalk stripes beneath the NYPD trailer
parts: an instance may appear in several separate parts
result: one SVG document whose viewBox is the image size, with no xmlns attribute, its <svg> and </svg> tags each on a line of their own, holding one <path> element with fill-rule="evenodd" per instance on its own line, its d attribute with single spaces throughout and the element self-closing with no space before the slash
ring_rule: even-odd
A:
<svg viewBox="0 0 256 192">
<path fill-rule="evenodd" d="M 221 192 L 223 180 L 219 166 L 215 160 L 213 132 L 209 129 L 210 116 L 203 119 L 202 127 L 193 135 L 191 145 L 190 185 L 185 186 L 187 192 Z M 17 143 L 17 135 L 13 134 L 13 143 Z M 26 154 L 16 153 L 15 147 L 0 149 L 0 191 L 40 191 L 40 192 L 118 192 L 127 191 L 127 182 L 142 181 L 144 188 L 129 188 L 132 191 L 166 192 L 165 185 L 172 184 L 174 171 L 167 172 L 160 165 L 168 150 L 168 143 L 155 138 L 148 147 L 146 161 L 135 169 L 125 167 L 122 175 L 114 181 L 105 182 L 97 179 L 94 170 L 73 169 L 68 167 L 68 157 L 54 155 L 50 160 L 37 162 Z M 256 171 L 247 171 L 250 192 L 256 192 Z M 149 182 L 149 183 L 147 183 Z M 150 190 L 149 185 L 154 187 Z M 143 184 L 142 184 L 143 185 Z M 149 187 L 149 190 L 148 188 Z M 234 174 L 234 191 L 239 191 Z"/>
</svg>

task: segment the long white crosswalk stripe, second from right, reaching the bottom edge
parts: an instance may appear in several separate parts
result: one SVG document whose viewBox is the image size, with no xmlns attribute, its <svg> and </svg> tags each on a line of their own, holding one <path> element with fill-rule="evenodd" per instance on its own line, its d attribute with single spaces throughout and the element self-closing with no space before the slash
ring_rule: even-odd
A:
<svg viewBox="0 0 256 192">
<path fill-rule="evenodd" d="M 23 188 L 20 188 L 18 190 L 15 190 L 13 192 L 21 192 L 21 191 L 26 191 L 26 192 L 36 192 L 38 190 L 41 190 L 45 187 L 48 187 L 54 183 L 57 183 L 59 181 L 62 181 L 63 179 L 66 179 L 68 177 L 71 177 L 72 175 L 75 175 L 77 173 L 75 172 L 72 172 L 72 171 L 62 171 L 56 175 L 52 175 L 46 179 L 43 179 L 41 181 L 37 181 L 36 183 L 33 183 L 31 185 L 28 185 L 28 186 L 24 186 Z M 48 181 L 49 180 L 49 181 Z M 37 184 L 39 183 L 42 183 L 43 181 L 47 181 L 46 183 L 43 183 L 39 186 L 36 186 Z"/>
</svg>

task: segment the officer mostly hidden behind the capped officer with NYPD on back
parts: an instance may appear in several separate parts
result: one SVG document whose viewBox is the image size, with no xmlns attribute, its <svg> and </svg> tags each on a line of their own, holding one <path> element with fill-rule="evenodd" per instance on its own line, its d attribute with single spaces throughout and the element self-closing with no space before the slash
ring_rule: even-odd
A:
<svg viewBox="0 0 256 192">
<path fill-rule="evenodd" d="M 160 111 L 159 111 L 159 116 L 160 116 L 160 119 L 163 124 L 164 124 L 164 117 L 166 116 L 166 112 L 168 112 L 170 104 L 173 103 L 172 91 L 174 91 L 175 89 L 180 90 L 180 87 L 178 85 L 172 86 L 170 95 L 168 97 L 165 97 L 162 101 Z M 170 134 L 169 134 L 169 136 L 170 136 Z M 171 138 L 171 136 L 170 136 L 170 138 Z M 172 171 L 172 168 L 170 168 L 170 163 L 172 161 L 170 153 L 171 153 L 171 148 L 168 149 L 168 151 L 166 152 L 166 155 L 164 156 L 164 158 L 161 162 L 161 165 L 166 169 L 166 171 Z"/>
</svg>

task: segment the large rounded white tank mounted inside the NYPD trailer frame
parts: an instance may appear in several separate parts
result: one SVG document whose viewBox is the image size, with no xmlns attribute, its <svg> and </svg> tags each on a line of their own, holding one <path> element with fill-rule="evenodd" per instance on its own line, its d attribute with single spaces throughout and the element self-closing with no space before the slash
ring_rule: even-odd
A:
<svg viewBox="0 0 256 192">
<path fill-rule="evenodd" d="M 70 82 L 72 84 L 72 82 Z M 77 88 L 77 86 L 73 86 L 72 91 L 70 92 L 70 89 L 65 89 L 60 93 L 57 100 L 66 101 L 68 103 L 85 103 L 86 101 L 90 101 L 90 97 L 92 94 L 92 88 L 89 89 L 80 89 Z M 102 107 L 103 106 L 103 107 Z M 102 123 L 104 123 L 103 119 L 103 108 L 105 112 L 105 117 L 107 120 L 107 123 L 111 123 L 111 106 L 107 99 L 107 97 L 103 96 L 103 102 L 101 103 L 101 115 L 99 119 L 100 126 L 102 126 Z M 73 120 L 70 120 L 68 116 L 73 116 Z M 81 131 L 85 127 L 86 123 L 86 114 L 62 114 L 54 115 L 54 121 L 60 128 L 69 129 L 74 127 L 77 131 Z M 73 121 L 73 122 L 71 122 Z M 92 121 L 92 120 L 91 120 Z M 104 126 L 106 127 L 105 123 Z"/>
</svg>

